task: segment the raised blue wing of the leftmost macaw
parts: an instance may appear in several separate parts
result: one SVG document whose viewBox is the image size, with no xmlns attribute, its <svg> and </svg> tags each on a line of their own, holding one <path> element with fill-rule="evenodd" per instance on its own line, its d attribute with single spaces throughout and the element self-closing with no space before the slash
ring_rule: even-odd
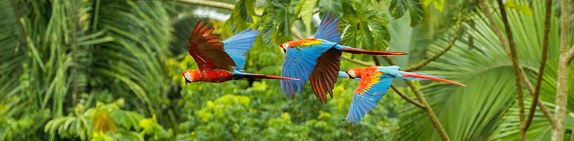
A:
<svg viewBox="0 0 574 141">
<path fill-rule="evenodd" d="M 234 70 L 242 70 L 245 67 L 245 54 L 247 50 L 253 47 L 255 38 L 261 33 L 260 30 L 253 30 L 249 28 L 231 36 L 223 41 L 223 49 L 235 62 Z"/>
</svg>

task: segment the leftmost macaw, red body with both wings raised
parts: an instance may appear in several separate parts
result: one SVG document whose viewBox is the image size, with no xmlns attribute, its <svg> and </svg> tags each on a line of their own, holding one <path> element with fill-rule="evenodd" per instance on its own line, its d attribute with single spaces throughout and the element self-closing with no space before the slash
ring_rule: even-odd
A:
<svg viewBox="0 0 574 141">
<path fill-rule="evenodd" d="M 207 28 L 199 21 L 189 36 L 189 55 L 199 69 L 183 72 L 185 85 L 196 81 L 222 83 L 229 80 L 248 79 L 288 79 L 288 77 L 258 75 L 243 72 L 245 53 L 253 46 L 255 38 L 261 33 L 252 28 L 243 30 L 220 42 L 219 34 L 210 34 L 214 28 Z"/>
</svg>

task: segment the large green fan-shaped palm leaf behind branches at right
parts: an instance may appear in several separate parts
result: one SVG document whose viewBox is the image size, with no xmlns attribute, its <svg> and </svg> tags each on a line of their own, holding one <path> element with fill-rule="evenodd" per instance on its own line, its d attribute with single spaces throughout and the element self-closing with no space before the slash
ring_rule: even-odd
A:
<svg viewBox="0 0 574 141">
<path fill-rule="evenodd" d="M 518 3 L 525 4 L 528 2 L 519 1 Z M 532 3 L 533 13 L 544 13 L 542 1 L 533 1 Z M 537 27 L 541 26 L 544 17 L 541 14 L 530 17 L 515 10 L 509 10 L 508 16 L 517 44 L 519 62 L 526 73 L 533 75 L 536 73 L 537 69 L 535 68 L 540 62 L 540 50 L 542 48 L 542 32 L 541 28 Z M 516 105 L 514 82 L 509 81 L 514 77 L 511 62 L 483 17 L 482 13 L 472 15 L 471 18 L 475 19 L 475 26 L 472 27 L 470 24 L 464 24 L 464 26 L 475 30 L 467 30 L 465 36 L 455 42 L 451 51 L 426 67 L 426 69 L 433 71 L 425 72 L 438 76 L 448 76 L 447 79 L 458 80 L 468 85 L 466 88 L 461 88 L 435 84 L 423 89 L 423 92 L 429 96 L 431 106 L 437 112 L 452 140 L 506 140 L 509 139 L 509 136 L 517 136 L 518 133 L 518 126 L 509 127 L 506 124 L 510 122 L 509 120 L 518 119 L 517 113 L 509 111 L 510 107 Z M 495 18 L 501 25 L 500 15 L 495 13 Z M 557 22 L 553 22 L 553 27 L 557 27 Z M 550 33 L 555 35 L 557 28 L 553 28 Z M 474 49 L 468 48 L 468 37 L 474 38 Z M 557 44 L 557 40 L 550 40 L 550 42 L 549 56 L 552 56 L 552 54 L 557 53 L 556 46 L 552 46 Z M 431 52 L 438 52 L 447 44 L 447 41 L 444 40 L 437 41 L 432 46 Z M 552 59 L 549 58 L 549 60 Z M 552 71 L 555 70 L 546 72 L 552 74 Z M 535 80 L 530 79 L 530 81 Z M 548 79 L 545 82 L 555 83 L 555 81 Z M 552 88 L 555 87 L 544 86 L 542 89 Z M 541 97 L 552 97 L 552 95 L 550 92 L 541 93 Z M 542 100 L 549 102 L 545 104 L 552 107 L 548 104 L 553 103 L 553 100 Z M 404 116 L 406 124 L 403 126 L 420 128 L 402 128 L 404 130 L 398 136 L 403 139 L 433 137 L 433 139 L 438 140 L 436 131 L 433 130 L 432 124 L 426 119 L 427 117 L 408 118 L 413 114 L 420 115 L 422 111 L 409 111 Z M 541 114 L 537 112 L 537 115 Z M 545 118 L 537 117 L 539 118 L 530 128 L 532 135 L 529 135 L 529 138 L 531 139 L 541 139 L 541 136 L 544 135 L 542 133 L 544 130 L 541 131 L 541 128 L 545 127 L 544 124 L 548 124 Z M 417 134 L 413 134 L 413 132 Z M 509 132 L 516 134 L 509 134 Z"/>
</svg>

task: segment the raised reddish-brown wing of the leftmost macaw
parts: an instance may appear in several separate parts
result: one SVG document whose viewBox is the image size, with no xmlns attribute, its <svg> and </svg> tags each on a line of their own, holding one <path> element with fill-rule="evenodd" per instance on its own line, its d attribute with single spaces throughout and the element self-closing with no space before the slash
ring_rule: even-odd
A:
<svg viewBox="0 0 574 141">
<path fill-rule="evenodd" d="M 199 66 L 199 69 L 215 68 L 231 71 L 235 62 L 223 49 L 223 42 L 219 41 L 219 34 L 210 34 L 214 28 L 207 28 L 199 21 L 189 36 L 187 51 Z"/>
</svg>

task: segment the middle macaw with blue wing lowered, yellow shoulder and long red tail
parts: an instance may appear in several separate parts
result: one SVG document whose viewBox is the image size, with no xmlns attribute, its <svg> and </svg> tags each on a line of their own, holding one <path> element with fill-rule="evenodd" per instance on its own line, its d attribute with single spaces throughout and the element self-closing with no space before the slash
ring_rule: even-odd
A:
<svg viewBox="0 0 574 141">
<path fill-rule="evenodd" d="M 377 56 L 404 55 L 405 52 L 378 52 L 351 48 L 340 44 L 339 18 L 329 13 L 323 14 L 323 19 L 317 28 L 315 38 L 306 38 L 297 41 L 285 42 L 280 45 L 283 60 L 282 77 L 296 80 L 281 80 L 281 90 L 286 97 L 295 99 L 295 93 L 302 93 L 302 88 L 311 81 L 311 88 L 315 96 L 323 103 L 327 103 L 327 93 L 333 97 L 333 87 L 337 81 L 340 57 L 342 52 L 352 54 L 367 54 Z"/>
</svg>

